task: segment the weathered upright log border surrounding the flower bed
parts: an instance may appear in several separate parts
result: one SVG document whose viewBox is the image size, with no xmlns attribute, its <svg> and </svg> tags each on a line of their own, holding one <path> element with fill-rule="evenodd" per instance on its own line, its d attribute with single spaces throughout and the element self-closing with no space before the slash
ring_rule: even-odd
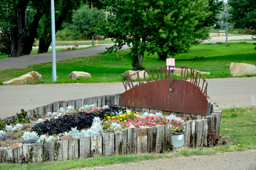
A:
<svg viewBox="0 0 256 170">
<path fill-rule="evenodd" d="M 118 105 L 119 95 L 103 95 L 98 97 L 57 101 L 46 106 L 27 110 L 27 118 L 36 115 L 45 115 L 47 112 L 56 112 L 60 107 L 66 108 L 72 105 L 78 110 L 86 104 L 95 104 L 96 107 L 105 105 Z M 197 118 L 196 121 L 187 121 L 185 130 L 185 145 L 188 147 L 209 147 L 207 143 L 208 128 L 216 130 L 219 137 L 221 124 L 221 109 L 212 98 L 207 95 L 208 112 L 207 116 L 192 115 L 187 113 L 169 112 L 165 110 L 153 110 L 144 108 L 123 107 L 137 112 L 155 113 L 161 112 L 164 115 L 186 115 Z M 15 116 L 5 118 L 14 119 Z M 48 161 L 62 161 L 75 158 L 88 158 L 97 156 L 114 156 L 140 153 L 164 153 L 167 145 L 171 142 L 172 126 L 147 127 L 144 129 L 127 128 L 115 133 L 104 133 L 92 137 L 81 137 L 80 139 L 68 139 L 57 141 L 60 143 L 56 155 L 56 142 L 45 144 L 23 144 L 23 146 L 12 150 L 0 150 L 0 163 L 20 163 L 22 160 L 31 160 L 33 163 L 40 163 L 47 155 Z M 33 156 L 29 152 L 33 151 Z M 31 157 L 31 158 L 30 158 Z"/>
</svg>

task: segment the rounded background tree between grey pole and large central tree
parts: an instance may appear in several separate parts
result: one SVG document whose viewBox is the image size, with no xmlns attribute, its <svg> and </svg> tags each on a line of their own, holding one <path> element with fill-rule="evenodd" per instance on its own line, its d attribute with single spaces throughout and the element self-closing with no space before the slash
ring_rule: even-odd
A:
<svg viewBox="0 0 256 170">
<path fill-rule="evenodd" d="M 91 37 L 99 32 L 99 27 L 97 25 L 104 18 L 105 13 L 102 10 L 98 10 L 96 8 L 89 9 L 88 5 L 83 4 L 78 9 L 78 12 L 73 14 L 73 24 L 71 25 L 71 29 Z"/>
</svg>

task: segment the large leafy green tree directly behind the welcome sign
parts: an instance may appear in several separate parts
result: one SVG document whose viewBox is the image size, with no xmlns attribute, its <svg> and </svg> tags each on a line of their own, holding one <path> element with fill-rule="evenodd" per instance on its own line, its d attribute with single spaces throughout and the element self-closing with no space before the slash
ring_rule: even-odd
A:
<svg viewBox="0 0 256 170">
<path fill-rule="evenodd" d="M 110 15 L 101 34 L 115 43 L 108 52 L 127 43 L 134 70 L 141 68 L 145 51 L 166 58 L 209 37 L 207 0 L 105 0 L 103 6 Z"/>
</svg>

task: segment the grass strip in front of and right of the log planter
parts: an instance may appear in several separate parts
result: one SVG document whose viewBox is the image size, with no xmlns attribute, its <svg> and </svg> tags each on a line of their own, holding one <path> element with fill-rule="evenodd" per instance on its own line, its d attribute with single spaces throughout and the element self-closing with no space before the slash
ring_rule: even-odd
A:
<svg viewBox="0 0 256 170">
<path fill-rule="evenodd" d="M 175 158 L 180 156 L 207 155 L 232 151 L 256 149 L 256 107 L 229 108 L 222 110 L 220 136 L 227 139 L 225 145 L 201 149 L 183 148 L 180 152 L 169 154 L 141 154 L 132 156 L 111 156 L 102 158 L 74 159 L 37 164 L 0 164 L 1 170 L 69 170 L 86 167 L 106 166 L 138 162 L 156 158 Z"/>
</svg>

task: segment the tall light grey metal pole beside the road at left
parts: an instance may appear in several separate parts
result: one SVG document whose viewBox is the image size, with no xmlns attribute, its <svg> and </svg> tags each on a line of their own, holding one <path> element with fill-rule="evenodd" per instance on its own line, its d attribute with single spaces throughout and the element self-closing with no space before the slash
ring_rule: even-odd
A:
<svg viewBox="0 0 256 170">
<path fill-rule="evenodd" d="M 55 14 L 54 0 L 51 0 L 51 18 L 52 18 L 52 81 L 56 81 L 56 49 L 55 49 Z"/>
</svg>

